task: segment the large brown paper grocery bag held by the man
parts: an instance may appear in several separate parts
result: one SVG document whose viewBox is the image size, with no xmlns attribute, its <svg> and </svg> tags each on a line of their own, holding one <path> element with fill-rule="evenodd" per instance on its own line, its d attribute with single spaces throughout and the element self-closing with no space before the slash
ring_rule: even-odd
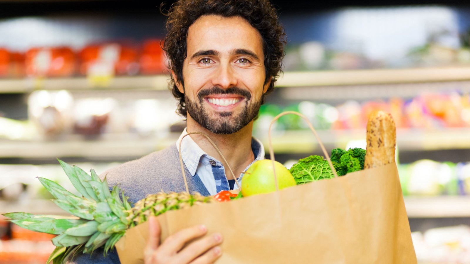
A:
<svg viewBox="0 0 470 264">
<path fill-rule="evenodd" d="M 158 220 L 162 240 L 200 224 L 222 233 L 217 263 L 417 263 L 395 163 Z M 148 222 L 129 229 L 116 244 L 121 263 L 142 264 L 147 238 Z"/>
</svg>

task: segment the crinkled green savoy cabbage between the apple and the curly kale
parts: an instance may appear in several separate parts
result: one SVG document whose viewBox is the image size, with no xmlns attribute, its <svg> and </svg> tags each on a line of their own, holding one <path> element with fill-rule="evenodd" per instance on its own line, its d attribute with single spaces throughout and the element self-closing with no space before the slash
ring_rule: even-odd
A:
<svg viewBox="0 0 470 264">
<path fill-rule="evenodd" d="M 298 163 L 292 165 L 289 171 L 292 176 L 294 176 L 297 184 L 308 183 L 319 179 L 331 179 L 334 177 L 328 161 L 319 155 L 312 155 L 300 159 Z"/>
</svg>

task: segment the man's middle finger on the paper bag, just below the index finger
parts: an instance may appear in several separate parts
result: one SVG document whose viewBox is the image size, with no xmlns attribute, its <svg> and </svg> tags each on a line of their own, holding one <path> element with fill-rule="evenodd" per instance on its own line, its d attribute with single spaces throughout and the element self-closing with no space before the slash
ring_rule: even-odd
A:
<svg viewBox="0 0 470 264">
<path fill-rule="evenodd" d="M 222 235 L 219 233 L 204 237 L 183 248 L 183 250 L 176 255 L 175 260 L 177 263 L 188 263 L 209 249 L 213 249 L 215 246 L 220 245 L 220 243 L 222 243 Z"/>
</svg>

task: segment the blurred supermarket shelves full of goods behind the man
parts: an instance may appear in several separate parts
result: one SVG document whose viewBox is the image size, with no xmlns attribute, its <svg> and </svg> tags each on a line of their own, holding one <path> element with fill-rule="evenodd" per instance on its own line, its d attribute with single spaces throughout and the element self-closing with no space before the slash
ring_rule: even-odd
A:
<svg viewBox="0 0 470 264">
<path fill-rule="evenodd" d="M 0 212 L 63 214 L 36 179 L 71 190 L 56 158 L 101 173 L 177 140 L 160 3 L 0 0 Z M 273 3 L 284 73 L 254 135 L 267 147 L 295 110 L 328 150 L 364 148 L 368 113 L 389 111 L 418 260 L 470 263 L 470 4 Z M 274 130 L 286 166 L 322 155 L 298 117 Z M 50 239 L 0 219 L 0 263 L 44 263 Z"/>
</svg>

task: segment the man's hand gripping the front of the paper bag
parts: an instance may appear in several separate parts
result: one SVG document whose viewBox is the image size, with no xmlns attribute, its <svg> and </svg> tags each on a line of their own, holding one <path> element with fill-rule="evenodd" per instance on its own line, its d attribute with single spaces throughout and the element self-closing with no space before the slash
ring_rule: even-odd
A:
<svg viewBox="0 0 470 264">
<path fill-rule="evenodd" d="M 192 241 L 207 233 L 204 225 L 188 227 L 174 233 L 162 244 L 160 244 L 160 232 L 157 218 L 150 217 L 149 240 L 144 250 L 145 264 L 213 263 L 222 255 L 222 249 L 218 246 L 222 243 L 222 235 L 219 233 Z M 188 243 L 189 241 L 192 242 Z"/>
</svg>

